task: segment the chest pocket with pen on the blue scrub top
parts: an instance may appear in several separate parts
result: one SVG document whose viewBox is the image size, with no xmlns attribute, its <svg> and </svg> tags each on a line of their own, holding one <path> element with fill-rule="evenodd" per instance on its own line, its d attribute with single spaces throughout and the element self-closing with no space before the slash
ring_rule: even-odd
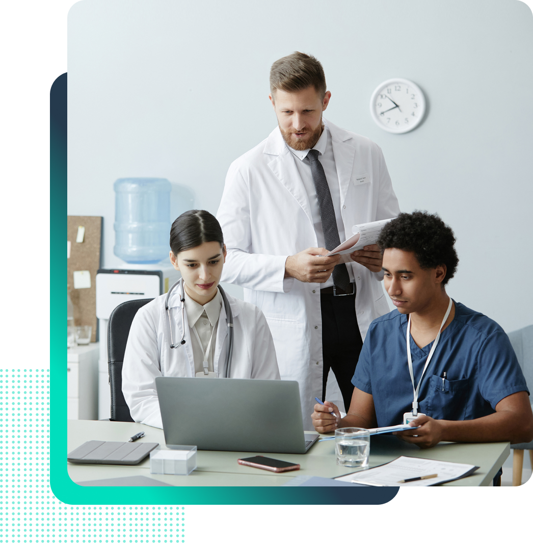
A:
<svg viewBox="0 0 533 543">
<path fill-rule="evenodd" d="M 439 420 L 465 420 L 468 378 L 444 380 L 432 375 L 429 384 L 428 415 Z"/>
</svg>

